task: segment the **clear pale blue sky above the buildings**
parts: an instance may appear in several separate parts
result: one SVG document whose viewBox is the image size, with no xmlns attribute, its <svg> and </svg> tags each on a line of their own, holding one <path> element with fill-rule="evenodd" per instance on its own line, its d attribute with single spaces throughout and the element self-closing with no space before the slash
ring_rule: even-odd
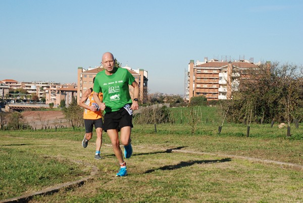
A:
<svg viewBox="0 0 303 203">
<path fill-rule="evenodd" d="M 148 71 L 150 93 L 184 93 L 189 60 L 303 64 L 303 1 L 0 1 L 0 80 L 77 82 L 110 51 Z"/>
</svg>

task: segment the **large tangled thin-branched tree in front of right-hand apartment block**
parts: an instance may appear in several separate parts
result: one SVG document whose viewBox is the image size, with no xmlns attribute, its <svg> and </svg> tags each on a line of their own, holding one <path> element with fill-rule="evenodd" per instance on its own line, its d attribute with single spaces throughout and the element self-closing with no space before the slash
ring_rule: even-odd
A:
<svg viewBox="0 0 303 203">
<path fill-rule="evenodd" d="M 273 119 L 290 123 L 303 108 L 303 75 L 298 69 L 289 63 L 267 62 L 258 69 L 248 70 L 246 77 L 239 79 L 233 100 L 225 107 L 230 107 L 228 120 L 245 122 L 252 112 L 252 120 L 258 123 Z"/>
</svg>

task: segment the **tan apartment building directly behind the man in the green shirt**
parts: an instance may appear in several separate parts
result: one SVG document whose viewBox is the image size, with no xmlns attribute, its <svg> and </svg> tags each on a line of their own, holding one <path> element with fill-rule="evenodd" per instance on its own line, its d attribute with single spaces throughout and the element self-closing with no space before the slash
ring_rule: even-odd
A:
<svg viewBox="0 0 303 203">
<path fill-rule="evenodd" d="M 143 69 L 132 70 L 129 66 L 124 66 L 122 69 L 127 69 L 135 78 L 136 82 L 139 84 L 139 100 L 141 103 L 147 100 L 147 71 Z M 80 101 L 82 94 L 89 88 L 93 87 L 93 78 L 103 71 L 102 66 L 97 66 L 95 68 L 89 67 L 88 70 L 83 69 L 83 67 L 78 67 L 78 91 L 77 91 L 77 100 Z M 129 86 L 130 96 L 133 99 L 134 88 Z"/>
</svg>

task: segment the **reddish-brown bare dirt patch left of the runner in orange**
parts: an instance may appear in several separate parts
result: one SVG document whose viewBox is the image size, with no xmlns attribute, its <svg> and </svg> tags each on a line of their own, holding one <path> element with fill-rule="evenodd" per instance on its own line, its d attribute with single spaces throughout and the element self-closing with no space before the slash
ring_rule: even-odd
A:
<svg viewBox="0 0 303 203">
<path fill-rule="evenodd" d="M 63 111 L 24 111 L 22 115 L 33 128 L 39 129 L 45 126 L 54 128 L 68 125 Z"/>
</svg>

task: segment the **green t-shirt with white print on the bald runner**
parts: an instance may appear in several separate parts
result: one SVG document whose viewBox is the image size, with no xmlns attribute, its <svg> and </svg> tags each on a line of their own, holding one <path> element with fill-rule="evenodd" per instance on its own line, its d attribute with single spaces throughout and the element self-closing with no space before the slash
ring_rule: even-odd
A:
<svg viewBox="0 0 303 203">
<path fill-rule="evenodd" d="M 132 103 L 129 87 L 135 78 L 127 69 L 116 68 L 111 76 L 105 71 L 99 72 L 94 80 L 93 91 L 103 93 L 103 102 L 106 105 L 105 112 L 118 111 L 126 104 Z"/>
</svg>

